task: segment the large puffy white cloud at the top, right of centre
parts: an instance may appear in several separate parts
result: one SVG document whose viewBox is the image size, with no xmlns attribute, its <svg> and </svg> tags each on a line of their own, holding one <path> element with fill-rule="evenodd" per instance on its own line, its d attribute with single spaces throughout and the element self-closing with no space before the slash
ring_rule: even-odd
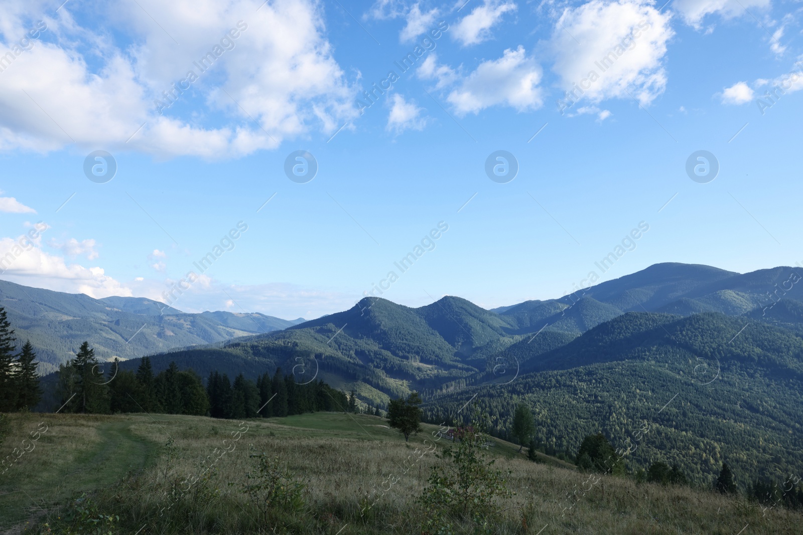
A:
<svg viewBox="0 0 803 535">
<path fill-rule="evenodd" d="M 674 35 L 670 18 L 639 0 L 566 8 L 552 34 L 554 70 L 567 91 L 560 110 L 584 98 L 652 102 L 666 87 L 662 59 Z"/>
</svg>

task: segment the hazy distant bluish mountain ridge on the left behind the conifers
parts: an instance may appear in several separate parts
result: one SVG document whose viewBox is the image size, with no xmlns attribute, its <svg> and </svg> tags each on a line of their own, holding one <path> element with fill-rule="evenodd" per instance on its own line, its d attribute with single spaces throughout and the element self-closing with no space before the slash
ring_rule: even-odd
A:
<svg viewBox="0 0 803 535">
<path fill-rule="evenodd" d="M 18 341 L 31 340 L 43 373 L 57 370 L 84 340 L 100 359 L 132 359 L 298 323 L 264 314 L 185 314 L 146 298 L 93 299 L 6 281 L 0 281 L 0 306 Z"/>
</svg>

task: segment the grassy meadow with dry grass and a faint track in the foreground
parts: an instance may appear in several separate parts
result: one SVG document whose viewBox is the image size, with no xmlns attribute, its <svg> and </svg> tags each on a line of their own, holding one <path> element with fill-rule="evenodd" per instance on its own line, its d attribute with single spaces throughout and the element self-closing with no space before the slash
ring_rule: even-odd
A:
<svg viewBox="0 0 803 535">
<path fill-rule="evenodd" d="M 370 415 L 317 413 L 242 425 L 179 415 L 10 419 L 3 456 L 31 451 L 0 475 L 0 533 L 410 535 L 422 533 L 414 499 L 426 486 L 430 467 L 442 463 L 432 453 L 414 460 L 436 426 L 425 425 L 426 432 L 408 444 L 385 420 Z M 44 426 L 34 448 L 31 442 L 21 446 Z M 763 512 L 741 498 L 613 476 L 584 484 L 588 476 L 569 464 L 551 458 L 532 463 L 517 446 L 495 442 L 488 452 L 498 468 L 512 472 L 507 484 L 516 494 L 498 504 L 501 520 L 491 533 L 803 533 L 800 513 Z M 445 439 L 434 444 L 451 445 Z M 14 448 L 19 450 L 12 454 Z M 300 509 L 265 510 L 243 492 L 253 481 L 247 476 L 255 469 L 251 454 L 259 452 L 278 457 L 305 485 Z M 361 515 L 369 492 L 389 476 L 395 484 L 384 487 L 387 492 Z M 90 521 L 73 521 L 70 528 L 65 518 L 75 515 L 71 504 L 84 493 L 92 504 L 81 502 L 82 514 Z M 100 514 L 119 521 L 92 523 Z M 86 529 L 77 531 L 76 525 Z M 479 532 L 458 523 L 454 533 Z"/>
</svg>

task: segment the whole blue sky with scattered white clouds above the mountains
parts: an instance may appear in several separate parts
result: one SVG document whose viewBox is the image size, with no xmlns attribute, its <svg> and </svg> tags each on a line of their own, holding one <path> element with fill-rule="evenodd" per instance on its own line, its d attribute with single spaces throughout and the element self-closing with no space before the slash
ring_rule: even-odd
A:
<svg viewBox="0 0 803 535">
<path fill-rule="evenodd" d="M 803 6 L 664 1 L 7 0 L 0 279 L 316 318 L 803 261 Z"/>
</svg>

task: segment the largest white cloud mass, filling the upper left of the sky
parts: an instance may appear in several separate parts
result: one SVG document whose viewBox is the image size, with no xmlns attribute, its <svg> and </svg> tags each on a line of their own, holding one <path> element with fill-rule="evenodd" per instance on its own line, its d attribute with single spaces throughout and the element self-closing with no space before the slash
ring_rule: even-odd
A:
<svg viewBox="0 0 803 535">
<path fill-rule="evenodd" d="M 13 9 L 4 6 L 0 28 L 24 34 L 24 2 L 7 3 Z M 48 40 L 0 76 L 0 150 L 48 151 L 75 141 L 214 159 L 332 132 L 357 114 L 355 91 L 324 36 L 323 4 L 315 0 L 275 0 L 257 11 L 248 0 L 124 0 L 97 14 L 107 23 L 100 29 L 75 22 L 83 16 L 73 18 L 71 10 L 83 6 L 67 3 L 59 18 L 47 19 Z M 39 8 L 25 9 L 39 17 Z M 149 14 L 157 14 L 158 25 Z M 223 46 L 234 48 L 224 51 L 221 41 L 238 20 L 247 29 L 226 38 Z M 116 43 L 119 34 L 132 43 Z M 194 62 L 215 46 L 221 55 L 213 54 L 213 67 L 202 72 Z M 184 117 L 175 106 L 160 116 L 154 99 L 165 99 L 163 91 L 190 70 L 198 81 L 177 99 L 192 111 Z"/>
</svg>

